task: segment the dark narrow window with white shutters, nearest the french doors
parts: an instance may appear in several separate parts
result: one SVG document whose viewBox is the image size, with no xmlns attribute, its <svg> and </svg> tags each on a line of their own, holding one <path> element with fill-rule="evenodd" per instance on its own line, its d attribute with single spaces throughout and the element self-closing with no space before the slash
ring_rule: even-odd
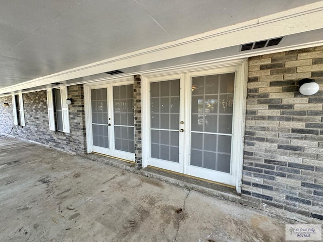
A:
<svg viewBox="0 0 323 242">
<path fill-rule="evenodd" d="M 49 130 L 70 133 L 67 87 L 47 90 Z"/>
</svg>

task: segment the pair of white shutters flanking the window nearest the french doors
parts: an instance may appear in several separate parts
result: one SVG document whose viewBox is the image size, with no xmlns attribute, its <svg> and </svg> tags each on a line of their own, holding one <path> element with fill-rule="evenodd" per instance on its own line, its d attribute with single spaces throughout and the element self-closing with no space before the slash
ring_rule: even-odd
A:
<svg viewBox="0 0 323 242">
<path fill-rule="evenodd" d="M 48 123 L 49 130 L 58 131 L 56 129 L 56 119 L 55 119 L 55 105 L 53 101 L 53 91 L 55 89 L 60 89 L 61 91 L 61 105 L 62 105 L 62 118 L 63 118 L 63 132 L 70 133 L 70 118 L 69 118 L 69 105 L 66 104 L 67 99 L 67 87 L 58 87 L 47 89 L 47 109 L 48 109 Z M 60 131 L 61 132 L 61 131 Z"/>
</svg>

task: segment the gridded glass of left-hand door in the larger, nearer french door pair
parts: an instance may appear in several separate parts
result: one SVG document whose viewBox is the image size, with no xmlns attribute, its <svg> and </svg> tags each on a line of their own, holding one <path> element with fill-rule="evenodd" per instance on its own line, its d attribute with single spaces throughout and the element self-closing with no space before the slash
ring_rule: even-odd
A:
<svg viewBox="0 0 323 242">
<path fill-rule="evenodd" d="M 179 162 L 180 80 L 150 83 L 151 157 Z"/>
</svg>

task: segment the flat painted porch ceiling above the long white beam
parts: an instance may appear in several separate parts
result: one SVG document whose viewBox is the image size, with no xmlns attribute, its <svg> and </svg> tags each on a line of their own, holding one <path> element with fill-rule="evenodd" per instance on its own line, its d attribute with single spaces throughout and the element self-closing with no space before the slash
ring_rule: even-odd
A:
<svg viewBox="0 0 323 242">
<path fill-rule="evenodd" d="M 0 0 L 0 93 L 15 84 L 315 2 L 321 1 Z M 296 44 L 298 38 L 303 41 L 296 35 Z M 310 42 L 312 35 L 306 38 Z M 317 33 L 313 38 L 323 39 Z"/>
</svg>

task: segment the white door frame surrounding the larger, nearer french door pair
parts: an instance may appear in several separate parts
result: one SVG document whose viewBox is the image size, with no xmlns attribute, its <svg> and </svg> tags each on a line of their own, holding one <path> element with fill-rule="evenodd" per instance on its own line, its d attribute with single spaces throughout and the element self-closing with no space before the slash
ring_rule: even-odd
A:
<svg viewBox="0 0 323 242">
<path fill-rule="evenodd" d="M 242 166 L 243 166 L 243 143 L 244 143 L 244 126 L 245 126 L 245 111 L 246 111 L 246 95 L 247 95 L 247 60 L 238 59 L 232 62 L 224 63 L 210 63 L 205 65 L 194 65 L 186 66 L 178 69 L 173 69 L 164 72 L 156 72 L 152 74 L 142 75 L 141 79 L 141 88 L 142 88 L 142 127 L 150 127 L 150 110 L 149 110 L 149 83 L 148 80 L 153 77 L 158 77 L 160 80 L 163 80 L 163 77 L 172 75 L 172 74 L 187 74 L 192 73 L 219 73 L 226 72 L 225 70 L 230 70 L 236 73 L 235 79 L 235 92 L 234 92 L 234 121 L 233 121 L 233 139 L 232 147 L 234 152 L 232 152 L 231 160 L 234 161 L 233 165 L 236 167 L 234 175 L 234 180 L 230 182 L 230 185 L 236 187 L 237 192 L 241 193 L 241 179 L 242 179 Z M 203 72 L 202 72 L 203 71 Z M 186 80 L 187 81 L 187 80 Z M 189 84 L 187 84 L 189 85 Z M 189 88 L 186 88 L 186 91 L 189 91 Z M 186 97 L 190 98 L 190 95 L 186 93 Z M 189 100 L 185 100 L 186 103 L 189 103 Z M 187 104 L 188 105 L 188 104 Z M 186 112 L 186 120 L 190 120 L 188 115 L 190 112 Z M 188 137 L 185 131 L 188 131 L 189 124 L 185 125 L 184 129 L 185 137 Z M 148 160 L 150 157 L 150 134 L 149 129 L 142 129 L 142 162 L 143 167 L 148 165 Z M 184 160 L 188 161 L 188 145 L 184 149 Z M 233 150 L 233 149 L 232 149 Z M 184 170 L 184 174 L 186 170 Z"/>
</svg>

